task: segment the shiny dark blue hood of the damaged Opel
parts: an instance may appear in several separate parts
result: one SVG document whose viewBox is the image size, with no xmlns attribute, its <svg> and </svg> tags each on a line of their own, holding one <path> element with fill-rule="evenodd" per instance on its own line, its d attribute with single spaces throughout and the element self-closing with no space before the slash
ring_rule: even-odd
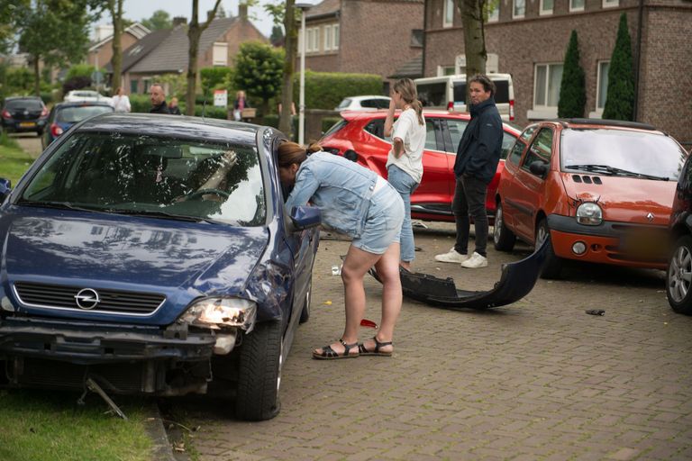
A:
<svg viewBox="0 0 692 461">
<path fill-rule="evenodd" d="M 263 227 L 17 206 L 9 211 L 0 215 L 2 288 L 24 282 L 165 297 L 156 312 L 127 317 L 134 323 L 165 325 L 196 298 L 241 294 L 269 240 Z M 114 320 L 112 314 L 74 309 L 20 309 Z"/>
</svg>

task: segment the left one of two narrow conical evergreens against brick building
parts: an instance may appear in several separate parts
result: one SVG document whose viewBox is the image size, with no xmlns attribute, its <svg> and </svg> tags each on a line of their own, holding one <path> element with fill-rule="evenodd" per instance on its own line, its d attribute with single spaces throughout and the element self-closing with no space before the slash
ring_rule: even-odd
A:
<svg viewBox="0 0 692 461">
<path fill-rule="evenodd" d="M 586 104 L 587 88 L 584 80 L 584 69 L 579 64 L 577 31 L 572 31 L 565 53 L 565 62 L 562 66 L 558 117 L 583 117 Z"/>
</svg>

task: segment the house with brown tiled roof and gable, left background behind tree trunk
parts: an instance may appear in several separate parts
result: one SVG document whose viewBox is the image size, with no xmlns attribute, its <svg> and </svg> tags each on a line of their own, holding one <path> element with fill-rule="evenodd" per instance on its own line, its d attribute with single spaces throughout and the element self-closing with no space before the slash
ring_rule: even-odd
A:
<svg viewBox="0 0 692 461">
<path fill-rule="evenodd" d="M 123 52 L 123 86 L 131 93 L 147 93 L 162 75 L 187 73 L 187 19 L 174 18 L 173 23 L 172 30 L 157 31 L 158 35 L 153 32 L 150 41 L 145 37 Z M 250 23 L 247 6 L 241 6 L 238 16 L 214 19 L 202 32 L 197 55 L 199 68 L 232 66 L 244 41 L 269 42 Z"/>
</svg>

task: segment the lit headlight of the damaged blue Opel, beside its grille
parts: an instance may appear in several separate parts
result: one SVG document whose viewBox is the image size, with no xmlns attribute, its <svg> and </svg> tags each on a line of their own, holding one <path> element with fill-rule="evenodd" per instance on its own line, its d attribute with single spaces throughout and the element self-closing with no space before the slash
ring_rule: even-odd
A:
<svg viewBox="0 0 692 461">
<path fill-rule="evenodd" d="M 257 304 L 241 298 L 206 298 L 192 304 L 180 321 L 196 327 L 219 330 L 237 327 L 250 332 L 255 325 Z"/>
</svg>

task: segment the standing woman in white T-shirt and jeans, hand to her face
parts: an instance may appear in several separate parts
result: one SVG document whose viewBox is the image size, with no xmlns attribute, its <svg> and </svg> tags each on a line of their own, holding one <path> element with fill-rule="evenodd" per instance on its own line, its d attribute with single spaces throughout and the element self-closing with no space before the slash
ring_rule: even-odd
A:
<svg viewBox="0 0 692 461">
<path fill-rule="evenodd" d="M 411 194 L 423 178 L 423 147 L 425 119 L 423 104 L 418 101 L 414 81 L 398 80 L 391 91 L 391 101 L 385 119 L 385 136 L 392 137 L 392 149 L 387 157 L 387 181 L 404 199 L 405 215 L 401 227 L 401 267 L 411 269 L 415 258 L 414 230 L 411 227 Z M 396 109 L 399 118 L 394 121 Z"/>
</svg>

